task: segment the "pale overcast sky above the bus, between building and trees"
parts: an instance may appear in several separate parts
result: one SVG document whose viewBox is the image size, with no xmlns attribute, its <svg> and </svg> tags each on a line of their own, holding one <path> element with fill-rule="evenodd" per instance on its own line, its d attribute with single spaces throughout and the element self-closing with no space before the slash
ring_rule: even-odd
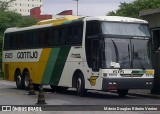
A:
<svg viewBox="0 0 160 114">
<path fill-rule="evenodd" d="M 109 11 L 117 10 L 122 2 L 134 0 L 78 0 L 78 15 L 104 16 Z M 72 10 L 77 15 L 77 1 L 75 0 L 43 0 L 42 14 L 58 14 L 64 10 Z"/>
</svg>

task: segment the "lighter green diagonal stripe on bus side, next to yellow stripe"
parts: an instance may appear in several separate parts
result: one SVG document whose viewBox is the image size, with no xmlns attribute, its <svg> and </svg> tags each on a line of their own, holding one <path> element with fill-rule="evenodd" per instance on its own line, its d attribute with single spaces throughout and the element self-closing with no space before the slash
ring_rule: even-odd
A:
<svg viewBox="0 0 160 114">
<path fill-rule="evenodd" d="M 52 75 L 53 68 L 55 66 L 55 62 L 56 62 L 59 50 L 60 50 L 60 48 L 51 49 L 51 53 L 50 53 L 50 56 L 49 56 L 49 59 L 48 59 L 48 63 L 46 65 L 45 72 L 44 72 L 44 75 L 43 75 L 42 84 L 49 84 L 49 81 L 50 81 L 50 78 L 51 78 L 51 75 Z"/>
</svg>

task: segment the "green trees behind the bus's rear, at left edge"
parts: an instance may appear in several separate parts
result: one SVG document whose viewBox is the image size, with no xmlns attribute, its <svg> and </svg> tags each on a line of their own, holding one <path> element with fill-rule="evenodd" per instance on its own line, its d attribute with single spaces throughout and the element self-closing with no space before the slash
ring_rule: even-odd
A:
<svg viewBox="0 0 160 114">
<path fill-rule="evenodd" d="M 9 7 L 9 3 L 13 2 L 14 0 L 10 0 L 9 2 L 2 2 L 0 1 L 0 63 L 2 58 L 2 42 L 3 42 L 3 33 L 7 28 L 10 27 L 26 27 L 31 26 L 37 23 L 35 18 L 29 16 L 21 16 L 21 14 L 7 11 Z M 1 69 L 1 64 L 0 64 Z"/>
</svg>

